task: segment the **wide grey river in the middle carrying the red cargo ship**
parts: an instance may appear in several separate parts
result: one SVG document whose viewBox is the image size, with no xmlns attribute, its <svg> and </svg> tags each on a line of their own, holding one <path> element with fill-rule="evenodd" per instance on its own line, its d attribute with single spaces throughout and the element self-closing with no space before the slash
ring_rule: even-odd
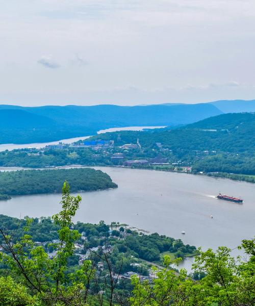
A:
<svg viewBox="0 0 255 306">
<path fill-rule="evenodd" d="M 94 167 L 107 172 L 117 189 L 81 193 L 75 221 L 118 221 L 150 233 L 181 238 L 186 244 L 235 249 L 255 234 L 255 185 L 154 170 Z M 242 205 L 215 198 L 219 192 L 241 196 Z M 60 210 L 60 194 L 16 196 L 0 201 L 0 213 L 12 217 L 50 216 Z M 213 218 L 211 218 L 213 216 Z M 181 232 L 186 234 L 182 235 Z M 186 261 L 189 270 L 191 262 Z"/>
</svg>

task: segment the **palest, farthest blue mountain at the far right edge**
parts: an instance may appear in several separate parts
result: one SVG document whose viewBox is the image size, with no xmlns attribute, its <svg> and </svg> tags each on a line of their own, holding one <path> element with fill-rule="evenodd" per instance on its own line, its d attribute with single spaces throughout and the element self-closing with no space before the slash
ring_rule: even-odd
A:
<svg viewBox="0 0 255 306">
<path fill-rule="evenodd" d="M 219 100 L 210 104 L 223 113 L 255 112 L 255 100 Z"/>
</svg>

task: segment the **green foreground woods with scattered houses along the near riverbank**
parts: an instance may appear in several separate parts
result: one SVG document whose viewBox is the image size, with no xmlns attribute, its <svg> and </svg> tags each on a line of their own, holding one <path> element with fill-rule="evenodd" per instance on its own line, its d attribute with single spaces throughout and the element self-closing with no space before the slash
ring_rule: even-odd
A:
<svg viewBox="0 0 255 306">
<path fill-rule="evenodd" d="M 1 305 L 254 305 L 255 239 L 243 240 L 239 247 L 246 253 L 245 260 L 231 257 L 231 249 L 223 246 L 216 251 L 199 249 L 190 275 L 185 269 L 173 270 L 170 265 L 178 265 L 181 259 L 172 260 L 168 254 L 160 265 L 148 266 L 141 262 L 142 257 L 140 261 L 136 258 L 138 252 L 144 256 L 152 247 L 159 251 L 193 247 L 157 234 L 139 235 L 121 226 L 111 230 L 104 221 L 73 224 L 81 197 L 71 196 L 66 183 L 62 191 L 62 211 L 52 219 L 0 216 Z M 35 240 L 41 232 L 46 236 L 54 233 L 48 239 L 58 239 L 40 244 Z M 100 240 L 96 248 L 93 237 Z M 78 246 L 82 261 L 78 260 Z"/>
</svg>

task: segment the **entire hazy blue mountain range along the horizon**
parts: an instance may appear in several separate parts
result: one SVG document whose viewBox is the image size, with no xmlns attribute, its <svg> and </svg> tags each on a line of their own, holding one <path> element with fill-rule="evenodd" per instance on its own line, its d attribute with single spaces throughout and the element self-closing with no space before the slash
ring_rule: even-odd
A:
<svg viewBox="0 0 255 306">
<path fill-rule="evenodd" d="M 0 105 L 0 143 L 46 142 L 123 126 L 180 126 L 228 112 L 253 112 L 255 100 L 147 106 Z"/>
</svg>

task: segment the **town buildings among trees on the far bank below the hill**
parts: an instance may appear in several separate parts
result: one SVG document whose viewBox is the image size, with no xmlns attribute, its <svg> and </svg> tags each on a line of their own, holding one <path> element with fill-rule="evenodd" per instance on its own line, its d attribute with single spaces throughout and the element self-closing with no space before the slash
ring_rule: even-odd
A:
<svg viewBox="0 0 255 306">
<path fill-rule="evenodd" d="M 120 138 L 120 136 L 118 135 Z M 191 172 L 193 161 L 181 160 L 175 157 L 172 150 L 156 142 L 153 148 L 142 147 L 137 139 L 136 143 L 115 144 L 114 140 L 85 140 L 75 143 L 48 144 L 43 148 L 28 147 L 21 149 L 30 157 L 61 155 L 66 152 L 71 164 L 81 161 L 82 165 L 107 165 L 134 168 L 148 168 L 156 170 Z M 21 151 L 17 150 L 17 151 Z M 216 151 L 195 150 L 194 159 L 198 160 L 208 155 L 215 155 Z M 86 158 L 83 158 L 85 157 Z M 69 163 L 70 164 L 70 163 Z M 50 167 L 51 165 L 43 165 Z M 58 165 L 57 165 L 58 166 Z"/>
</svg>

